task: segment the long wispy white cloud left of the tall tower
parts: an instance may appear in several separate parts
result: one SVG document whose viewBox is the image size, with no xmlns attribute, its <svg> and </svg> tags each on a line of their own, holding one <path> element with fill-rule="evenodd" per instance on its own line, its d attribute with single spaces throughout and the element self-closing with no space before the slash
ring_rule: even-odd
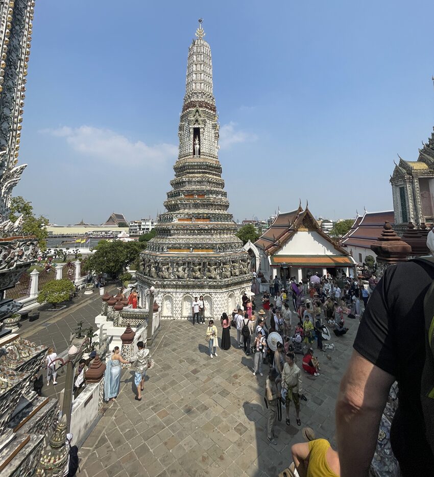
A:
<svg viewBox="0 0 434 477">
<path fill-rule="evenodd" d="M 126 161 L 131 165 L 158 166 L 170 159 L 175 162 L 178 148 L 173 144 L 148 146 L 142 141 L 132 142 L 122 134 L 110 129 L 80 126 L 79 128 L 62 127 L 42 131 L 56 137 L 64 137 L 73 151 L 106 162 Z"/>
</svg>

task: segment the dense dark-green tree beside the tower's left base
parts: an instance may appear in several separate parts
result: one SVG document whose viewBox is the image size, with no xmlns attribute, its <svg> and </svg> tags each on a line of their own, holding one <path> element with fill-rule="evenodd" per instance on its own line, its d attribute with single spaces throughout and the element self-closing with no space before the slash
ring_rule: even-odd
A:
<svg viewBox="0 0 434 477">
<path fill-rule="evenodd" d="M 139 242 L 108 242 L 101 240 L 95 252 L 90 255 L 83 265 L 84 271 L 94 271 L 97 274 L 107 273 L 118 277 L 127 265 L 134 263 L 146 244 Z"/>
</svg>

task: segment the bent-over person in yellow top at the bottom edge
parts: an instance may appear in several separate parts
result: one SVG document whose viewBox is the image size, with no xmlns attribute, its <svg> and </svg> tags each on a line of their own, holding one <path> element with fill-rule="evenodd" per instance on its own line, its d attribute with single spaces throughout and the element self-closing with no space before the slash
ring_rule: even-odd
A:
<svg viewBox="0 0 434 477">
<path fill-rule="evenodd" d="M 340 477 L 339 455 L 326 439 L 294 444 L 291 448 L 300 477 Z"/>
</svg>

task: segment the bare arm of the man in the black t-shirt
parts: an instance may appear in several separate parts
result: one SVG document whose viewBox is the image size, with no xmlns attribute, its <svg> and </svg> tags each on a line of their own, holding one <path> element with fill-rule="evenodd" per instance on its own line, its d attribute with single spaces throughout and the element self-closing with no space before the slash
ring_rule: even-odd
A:
<svg viewBox="0 0 434 477">
<path fill-rule="evenodd" d="M 395 378 L 353 350 L 336 401 L 341 477 L 366 477 Z"/>
</svg>

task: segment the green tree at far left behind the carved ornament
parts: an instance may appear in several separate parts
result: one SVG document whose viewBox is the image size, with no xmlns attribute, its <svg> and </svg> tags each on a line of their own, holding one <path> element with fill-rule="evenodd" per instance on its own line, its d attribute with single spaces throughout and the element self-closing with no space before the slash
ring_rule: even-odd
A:
<svg viewBox="0 0 434 477">
<path fill-rule="evenodd" d="M 12 197 L 9 219 L 15 222 L 20 215 L 23 215 L 22 234 L 35 235 L 38 240 L 39 250 L 46 250 L 46 240 L 48 238 L 48 219 L 43 216 L 35 217 L 32 202 L 23 199 L 21 196 Z"/>
</svg>

